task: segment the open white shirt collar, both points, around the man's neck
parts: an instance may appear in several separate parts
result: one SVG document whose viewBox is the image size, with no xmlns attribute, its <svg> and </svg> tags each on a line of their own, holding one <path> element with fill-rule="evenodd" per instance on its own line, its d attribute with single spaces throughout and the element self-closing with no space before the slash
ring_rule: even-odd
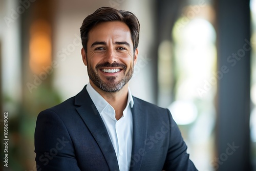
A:
<svg viewBox="0 0 256 171">
<path fill-rule="evenodd" d="M 90 82 L 87 84 L 86 89 L 94 105 L 96 106 L 99 114 L 101 114 L 101 112 L 106 108 L 106 106 L 110 104 L 91 86 Z M 130 88 L 128 88 L 127 104 L 123 111 L 124 115 L 127 111 L 127 107 L 129 106 L 129 104 L 131 104 L 131 108 L 133 108 L 134 101 Z"/>
</svg>

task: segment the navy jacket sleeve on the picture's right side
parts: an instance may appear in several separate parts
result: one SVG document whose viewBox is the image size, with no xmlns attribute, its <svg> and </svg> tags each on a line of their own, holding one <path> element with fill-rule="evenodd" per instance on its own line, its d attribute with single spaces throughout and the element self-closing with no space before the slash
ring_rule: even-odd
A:
<svg viewBox="0 0 256 171">
<path fill-rule="evenodd" d="M 167 111 L 170 120 L 170 139 L 163 170 L 197 170 L 194 163 L 189 160 L 189 154 L 186 152 L 187 146 L 178 125 L 169 110 Z"/>
</svg>

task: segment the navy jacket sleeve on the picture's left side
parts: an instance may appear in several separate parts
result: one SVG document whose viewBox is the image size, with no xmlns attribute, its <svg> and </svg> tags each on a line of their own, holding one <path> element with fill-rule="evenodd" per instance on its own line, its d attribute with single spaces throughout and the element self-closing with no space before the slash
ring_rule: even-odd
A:
<svg viewBox="0 0 256 171">
<path fill-rule="evenodd" d="M 80 170 L 68 130 L 54 111 L 42 111 L 36 121 L 35 153 L 38 171 Z"/>
</svg>

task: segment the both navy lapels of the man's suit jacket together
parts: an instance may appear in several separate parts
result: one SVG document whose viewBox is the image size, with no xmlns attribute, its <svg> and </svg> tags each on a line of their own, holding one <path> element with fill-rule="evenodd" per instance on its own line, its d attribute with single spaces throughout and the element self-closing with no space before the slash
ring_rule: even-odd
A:
<svg viewBox="0 0 256 171">
<path fill-rule="evenodd" d="M 130 170 L 140 170 L 147 134 L 147 112 L 142 108 L 140 100 L 135 97 L 133 99 L 133 148 Z M 75 96 L 75 105 L 78 106 L 77 112 L 97 141 L 110 170 L 119 170 L 115 149 L 108 131 L 86 90 L 86 86 Z"/>
</svg>

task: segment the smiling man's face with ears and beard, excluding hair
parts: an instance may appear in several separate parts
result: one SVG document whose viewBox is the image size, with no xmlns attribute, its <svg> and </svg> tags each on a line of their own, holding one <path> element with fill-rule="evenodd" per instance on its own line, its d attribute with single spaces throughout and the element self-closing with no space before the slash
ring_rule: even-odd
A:
<svg viewBox="0 0 256 171">
<path fill-rule="evenodd" d="M 118 92 L 129 82 L 137 55 L 130 29 L 122 22 L 96 25 L 89 32 L 87 53 L 82 49 L 91 82 L 105 92 Z"/>
</svg>

